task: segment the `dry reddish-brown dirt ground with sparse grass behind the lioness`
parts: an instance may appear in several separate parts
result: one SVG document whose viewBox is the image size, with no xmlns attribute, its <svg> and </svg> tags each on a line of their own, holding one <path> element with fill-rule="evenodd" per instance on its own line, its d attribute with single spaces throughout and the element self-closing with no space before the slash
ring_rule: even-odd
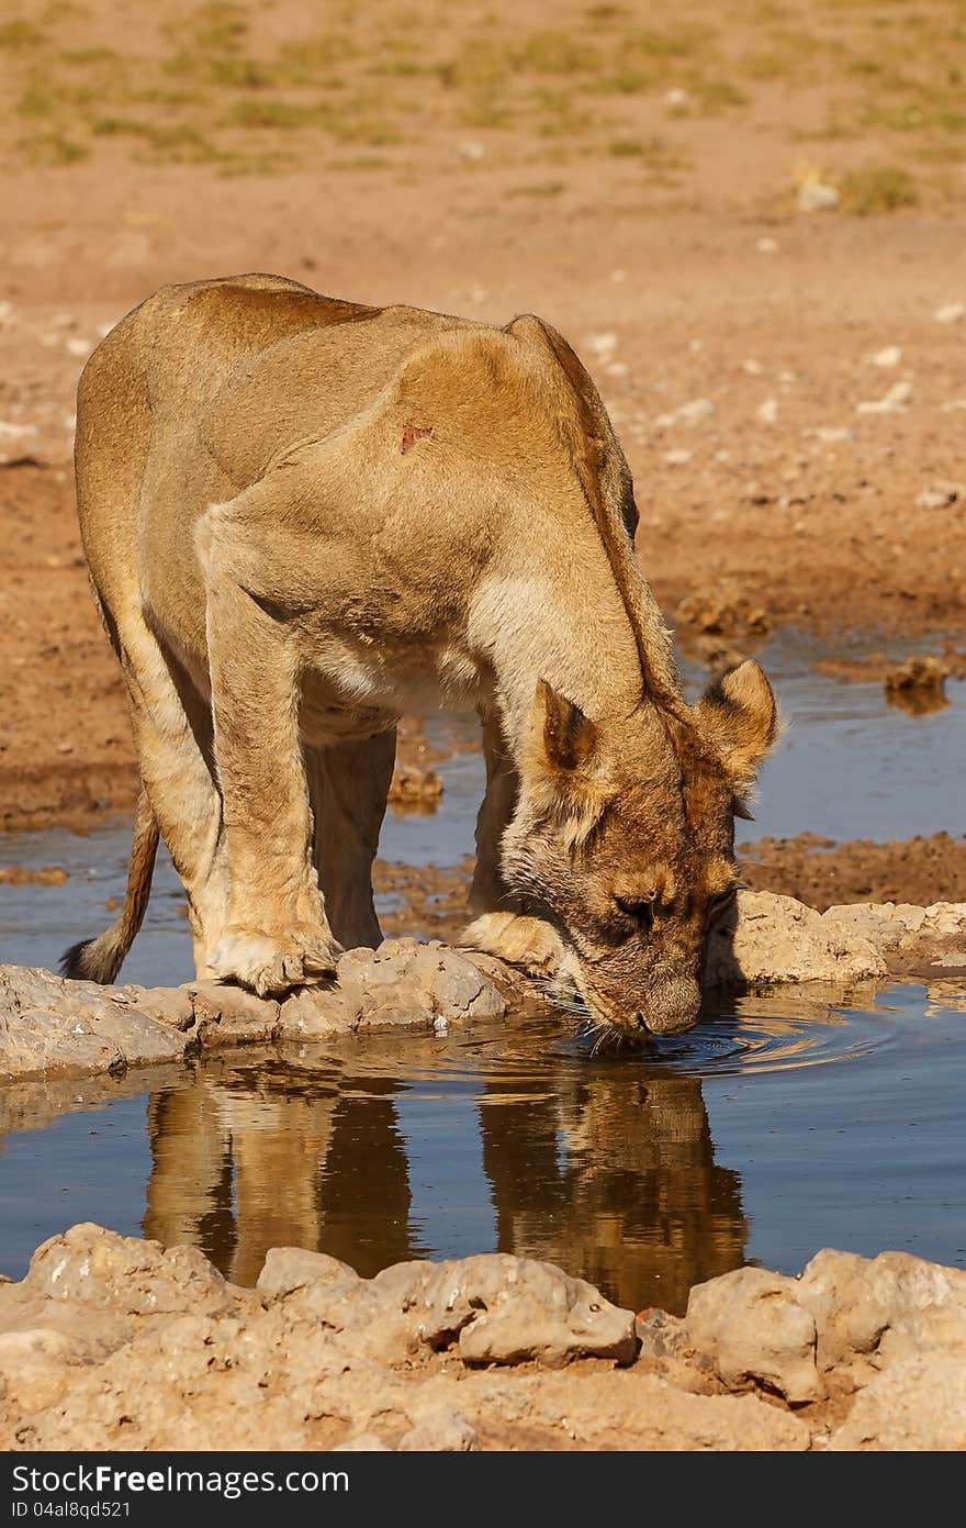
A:
<svg viewBox="0 0 966 1528">
<path fill-rule="evenodd" d="M 262 269 L 494 322 L 536 309 L 612 410 L 684 636 L 723 597 L 870 651 L 955 640 L 964 76 L 960 0 L 9 0 L 0 825 L 133 799 L 73 390 L 165 281 Z M 816 196 L 838 205 L 800 209 Z M 929 902 L 964 854 L 769 845 L 749 877 L 819 906 Z"/>
</svg>

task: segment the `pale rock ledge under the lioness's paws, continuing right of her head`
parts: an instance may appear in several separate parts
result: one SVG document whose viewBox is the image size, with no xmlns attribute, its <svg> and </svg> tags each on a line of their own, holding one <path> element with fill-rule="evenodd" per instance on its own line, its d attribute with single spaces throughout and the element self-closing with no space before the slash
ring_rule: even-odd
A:
<svg viewBox="0 0 966 1528">
<path fill-rule="evenodd" d="M 707 983 L 832 983 L 966 970 L 966 903 L 859 903 L 819 914 L 791 897 L 742 892 L 710 937 Z M 438 941 L 349 950 L 337 981 L 284 1002 L 211 981 L 98 987 L 0 966 L 0 1083 L 119 1076 L 226 1045 L 317 1041 L 386 1028 L 446 1028 L 539 1002 L 522 972 Z"/>
</svg>

